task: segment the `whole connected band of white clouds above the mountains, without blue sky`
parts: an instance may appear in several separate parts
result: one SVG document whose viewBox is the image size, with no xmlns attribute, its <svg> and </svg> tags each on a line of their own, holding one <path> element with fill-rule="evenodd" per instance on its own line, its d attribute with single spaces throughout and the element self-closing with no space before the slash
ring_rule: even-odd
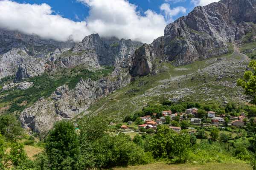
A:
<svg viewBox="0 0 256 170">
<path fill-rule="evenodd" d="M 161 6 L 162 14 L 147 10 L 143 14 L 128 0 L 77 0 L 89 8 L 85 21 L 75 22 L 56 15 L 51 6 L 43 3 L 26 4 L 0 0 L 0 27 L 38 34 L 43 38 L 81 41 L 85 36 L 99 33 L 104 37 L 118 37 L 141 42 L 152 42 L 164 34 L 167 22 L 183 7 Z"/>
</svg>

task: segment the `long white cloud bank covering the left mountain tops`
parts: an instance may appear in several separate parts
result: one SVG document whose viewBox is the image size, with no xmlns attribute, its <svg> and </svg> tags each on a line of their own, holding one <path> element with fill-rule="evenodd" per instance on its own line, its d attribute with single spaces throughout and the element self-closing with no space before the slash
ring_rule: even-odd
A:
<svg viewBox="0 0 256 170">
<path fill-rule="evenodd" d="M 58 41 L 66 41 L 70 38 L 80 41 L 81 36 L 90 34 L 85 21 L 74 22 L 60 15 L 54 15 L 51 7 L 45 3 L 31 5 L 1 0 L 0 11 L 2 28 L 37 34 Z"/>
</svg>

